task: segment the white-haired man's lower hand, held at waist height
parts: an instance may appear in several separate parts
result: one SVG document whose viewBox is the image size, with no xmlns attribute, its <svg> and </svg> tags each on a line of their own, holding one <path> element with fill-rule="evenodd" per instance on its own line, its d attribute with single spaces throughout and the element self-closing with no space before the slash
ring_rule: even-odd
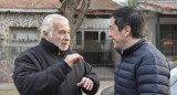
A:
<svg viewBox="0 0 177 95">
<path fill-rule="evenodd" d="M 94 84 L 93 84 L 92 80 L 90 80 L 87 77 L 83 77 L 82 81 L 80 83 L 77 83 L 76 85 L 84 87 L 87 91 L 92 91 Z"/>
</svg>

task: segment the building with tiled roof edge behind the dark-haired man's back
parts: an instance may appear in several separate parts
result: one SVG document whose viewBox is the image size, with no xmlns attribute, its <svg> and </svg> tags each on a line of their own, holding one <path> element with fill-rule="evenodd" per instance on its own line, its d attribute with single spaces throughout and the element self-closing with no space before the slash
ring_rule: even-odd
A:
<svg viewBox="0 0 177 95">
<path fill-rule="evenodd" d="M 177 1 L 138 0 L 137 8 L 146 15 L 145 35 L 167 57 L 177 61 Z"/>
</svg>

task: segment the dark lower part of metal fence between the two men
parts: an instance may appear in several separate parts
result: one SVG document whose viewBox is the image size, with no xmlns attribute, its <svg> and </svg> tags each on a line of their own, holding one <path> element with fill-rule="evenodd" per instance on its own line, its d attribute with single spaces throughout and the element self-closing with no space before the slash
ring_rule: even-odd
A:
<svg viewBox="0 0 177 95">
<path fill-rule="evenodd" d="M 84 44 L 81 46 L 75 46 L 84 60 L 94 66 L 114 66 L 113 59 L 113 46 L 111 40 L 97 41 L 88 40 L 84 41 Z"/>
</svg>

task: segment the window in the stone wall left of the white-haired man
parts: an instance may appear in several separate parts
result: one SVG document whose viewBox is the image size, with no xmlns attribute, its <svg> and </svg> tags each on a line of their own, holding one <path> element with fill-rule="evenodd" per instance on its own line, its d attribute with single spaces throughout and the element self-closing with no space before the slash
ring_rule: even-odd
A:
<svg viewBox="0 0 177 95">
<path fill-rule="evenodd" d="M 19 54 L 38 44 L 37 28 L 10 28 L 10 53 Z"/>
</svg>

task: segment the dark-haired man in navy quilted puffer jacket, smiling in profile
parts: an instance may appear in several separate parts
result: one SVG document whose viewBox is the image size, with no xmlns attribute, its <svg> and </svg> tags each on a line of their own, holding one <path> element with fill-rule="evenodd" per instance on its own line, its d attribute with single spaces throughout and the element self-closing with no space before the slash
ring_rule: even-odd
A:
<svg viewBox="0 0 177 95">
<path fill-rule="evenodd" d="M 111 14 L 110 27 L 108 36 L 121 54 L 114 95 L 169 95 L 169 65 L 143 38 L 143 14 L 131 7 L 119 8 Z"/>
</svg>

